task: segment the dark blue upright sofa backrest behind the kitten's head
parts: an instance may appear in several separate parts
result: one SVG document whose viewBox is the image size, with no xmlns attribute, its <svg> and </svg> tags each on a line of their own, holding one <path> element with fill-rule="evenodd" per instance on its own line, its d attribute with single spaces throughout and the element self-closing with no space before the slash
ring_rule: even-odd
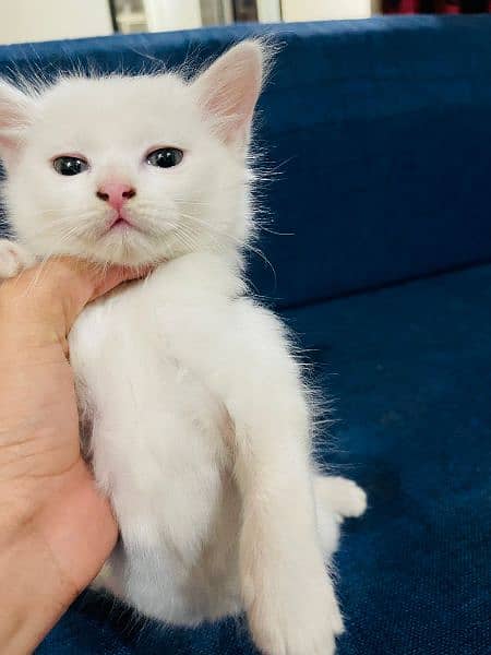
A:
<svg viewBox="0 0 491 655">
<path fill-rule="evenodd" d="M 255 290 L 287 307 L 491 260 L 491 16 L 5 46 L 0 75 L 199 62 L 264 32 L 283 48 L 260 103 Z"/>
</svg>

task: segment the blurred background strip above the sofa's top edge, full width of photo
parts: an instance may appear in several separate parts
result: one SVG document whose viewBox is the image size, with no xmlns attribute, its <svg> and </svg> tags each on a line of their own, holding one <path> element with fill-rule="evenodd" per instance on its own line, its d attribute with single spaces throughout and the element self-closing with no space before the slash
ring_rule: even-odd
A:
<svg viewBox="0 0 491 655">
<path fill-rule="evenodd" d="M 378 13 L 484 13 L 491 0 L 1 0 L 0 44 L 235 22 L 367 19 Z"/>
</svg>

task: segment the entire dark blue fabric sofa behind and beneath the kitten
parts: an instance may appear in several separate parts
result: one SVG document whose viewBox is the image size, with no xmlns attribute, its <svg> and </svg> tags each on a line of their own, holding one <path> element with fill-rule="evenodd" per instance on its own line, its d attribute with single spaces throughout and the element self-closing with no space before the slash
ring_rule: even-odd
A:
<svg viewBox="0 0 491 655">
<path fill-rule="evenodd" d="M 335 398 L 320 453 L 367 490 L 337 556 L 339 655 L 491 653 L 491 17 L 237 26 L 0 48 L 0 73 L 137 71 L 258 32 L 271 229 L 252 258 Z M 141 621 L 85 593 L 37 650 L 251 655 L 243 621 Z"/>
</svg>

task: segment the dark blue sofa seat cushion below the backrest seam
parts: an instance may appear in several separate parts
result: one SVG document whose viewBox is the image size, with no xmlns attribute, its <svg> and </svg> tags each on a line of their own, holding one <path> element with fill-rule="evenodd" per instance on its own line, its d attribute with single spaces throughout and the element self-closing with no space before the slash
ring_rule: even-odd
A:
<svg viewBox="0 0 491 655">
<path fill-rule="evenodd" d="M 369 492 L 337 556 L 338 655 L 491 652 L 491 266 L 290 310 L 326 394 L 318 452 Z M 252 655 L 243 622 L 163 629 L 94 593 L 37 655 Z"/>
</svg>

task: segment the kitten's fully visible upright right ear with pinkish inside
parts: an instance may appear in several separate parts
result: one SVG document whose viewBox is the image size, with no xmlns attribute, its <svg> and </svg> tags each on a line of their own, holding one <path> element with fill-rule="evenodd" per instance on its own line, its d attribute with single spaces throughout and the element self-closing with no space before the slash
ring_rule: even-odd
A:
<svg viewBox="0 0 491 655">
<path fill-rule="evenodd" d="M 260 40 L 244 40 L 212 63 L 193 83 L 200 106 L 218 136 L 246 150 L 270 57 Z"/>
</svg>

